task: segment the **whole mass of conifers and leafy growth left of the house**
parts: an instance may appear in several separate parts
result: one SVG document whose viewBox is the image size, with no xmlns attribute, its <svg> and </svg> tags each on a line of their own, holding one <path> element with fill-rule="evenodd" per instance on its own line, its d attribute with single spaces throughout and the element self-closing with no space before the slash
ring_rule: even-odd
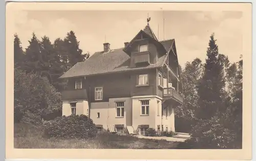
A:
<svg viewBox="0 0 256 161">
<path fill-rule="evenodd" d="M 53 44 L 49 37 L 44 36 L 39 40 L 32 33 L 25 52 L 15 34 L 15 121 L 38 122 L 41 118 L 47 120 L 61 115 L 61 96 L 58 91 L 67 82 L 58 77 L 88 57 L 89 53 L 82 54 L 73 31 L 64 40 L 58 38 Z"/>
</svg>

